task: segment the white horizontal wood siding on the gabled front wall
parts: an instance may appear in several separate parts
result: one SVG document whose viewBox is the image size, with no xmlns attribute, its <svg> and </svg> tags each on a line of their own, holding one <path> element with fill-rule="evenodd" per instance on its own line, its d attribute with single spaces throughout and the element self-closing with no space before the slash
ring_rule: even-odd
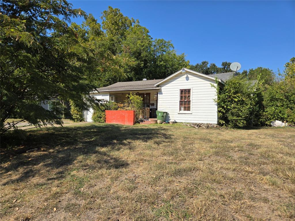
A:
<svg viewBox="0 0 295 221">
<path fill-rule="evenodd" d="M 215 80 L 186 71 L 163 82 L 158 94 L 158 110 L 168 112 L 166 121 L 217 123 Z M 191 89 L 191 113 L 179 113 L 179 90 Z"/>
</svg>

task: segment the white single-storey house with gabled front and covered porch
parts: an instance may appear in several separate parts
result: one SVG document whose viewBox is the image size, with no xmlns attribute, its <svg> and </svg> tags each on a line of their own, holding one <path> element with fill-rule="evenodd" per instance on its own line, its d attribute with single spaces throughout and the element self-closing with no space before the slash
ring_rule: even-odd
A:
<svg viewBox="0 0 295 221">
<path fill-rule="evenodd" d="M 217 123 L 216 85 L 233 77 L 234 72 L 204 75 L 186 68 L 158 80 L 118 82 L 97 88 L 92 95 L 100 100 L 124 102 L 126 95 L 137 93 L 142 96 L 144 108 L 155 117 L 155 110 L 167 112 L 166 121 L 190 123 Z M 148 115 L 148 114 L 147 114 Z M 85 120 L 91 122 L 92 110 Z"/>
</svg>

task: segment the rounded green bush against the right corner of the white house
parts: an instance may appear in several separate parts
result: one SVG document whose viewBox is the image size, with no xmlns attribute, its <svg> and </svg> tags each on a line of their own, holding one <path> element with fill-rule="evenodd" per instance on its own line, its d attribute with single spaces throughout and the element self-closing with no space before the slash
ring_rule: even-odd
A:
<svg viewBox="0 0 295 221">
<path fill-rule="evenodd" d="M 241 76 L 233 77 L 218 88 L 219 123 L 235 128 L 260 125 L 261 96 L 255 89 L 255 85 L 247 83 Z"/>
</svg>

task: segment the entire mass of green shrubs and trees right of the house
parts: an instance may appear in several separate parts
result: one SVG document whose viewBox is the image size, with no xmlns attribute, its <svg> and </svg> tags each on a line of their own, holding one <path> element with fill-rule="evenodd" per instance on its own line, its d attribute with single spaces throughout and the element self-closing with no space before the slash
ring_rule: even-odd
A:
<svg viewBox="0 0 295 221">
<path fill-rule="evenodd" d="M 258 67 L 217 87 L 219 123 L 231 127 L 270 125 L 274 120 L 295 123 L 295 57 L 279 75 L 275 80 L 272 70 Z"/>
</svg>

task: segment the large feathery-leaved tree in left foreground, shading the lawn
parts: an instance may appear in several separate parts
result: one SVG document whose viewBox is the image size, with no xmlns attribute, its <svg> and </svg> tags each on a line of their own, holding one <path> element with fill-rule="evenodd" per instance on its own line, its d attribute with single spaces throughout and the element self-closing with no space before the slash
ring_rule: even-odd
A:
<svg viewBox="0 0 295 221">
<path fill-rule="evenodd" d="M 84 27 L 69 25 L 78 16 L 86 18 Z M 90 44 L 103 35 L 100 25 L 67 1 L 2 1 L 0 19 L 1 133 L 15 127 L 5 123 L 12 117 L 35 126 L 62 124 L 57 108 L 40 103 L 72 100 L 87 109 L 104 70 L 117 70 L 117 56 Z"/>
</svg>

